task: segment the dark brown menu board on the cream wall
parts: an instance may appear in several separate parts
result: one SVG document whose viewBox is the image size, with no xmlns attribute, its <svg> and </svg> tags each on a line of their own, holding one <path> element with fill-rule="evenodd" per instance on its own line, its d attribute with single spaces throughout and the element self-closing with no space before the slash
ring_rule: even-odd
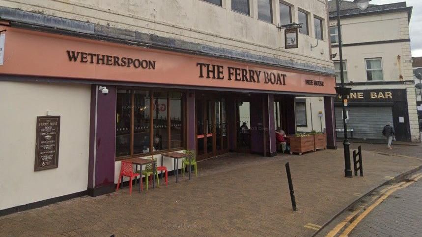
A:
<svg viewBox="0 0 422 237">
<path fill-rule="evenodd" d="M 60 116 L 38 116 L 34 171 L 58 167 Z"/>
</svg>

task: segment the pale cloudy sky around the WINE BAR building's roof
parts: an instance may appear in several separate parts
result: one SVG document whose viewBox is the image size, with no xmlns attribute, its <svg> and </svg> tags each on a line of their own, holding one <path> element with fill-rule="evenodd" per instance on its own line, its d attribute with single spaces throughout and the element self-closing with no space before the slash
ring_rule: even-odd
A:
<svg viewBox="0 0 422 237">
<path fill-rule="evenodd" d="M 413 6 L 410 19 L 410 40 L 413 57 L 422 57 L 422 0 L 372 0 L 371 4 L 388 4 L 406 1 L 407 6 Z"/>
</svg>

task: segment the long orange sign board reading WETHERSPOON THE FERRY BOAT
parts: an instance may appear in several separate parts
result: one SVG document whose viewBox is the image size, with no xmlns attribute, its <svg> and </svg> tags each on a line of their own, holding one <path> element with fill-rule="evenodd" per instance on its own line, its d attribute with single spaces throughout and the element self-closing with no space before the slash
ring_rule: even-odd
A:
<svg viewBox="0 0 422 237">
<path fill-rule="evenodd" d="M 5 27 L 1 74 L 335 95 L 335 78 Z"/>
</svg>

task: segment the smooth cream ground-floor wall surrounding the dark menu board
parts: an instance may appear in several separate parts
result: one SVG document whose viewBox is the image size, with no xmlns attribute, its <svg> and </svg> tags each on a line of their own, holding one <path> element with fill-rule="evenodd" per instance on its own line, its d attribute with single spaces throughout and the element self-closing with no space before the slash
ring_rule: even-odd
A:
<svg viewBox="0 0 422 237">
<path fill-rule="evenodd" d="M 90 86 L 0 82 L 0 210 L 86 190 Z M 36 118 L 60 115 L 58 168 L 34 172 Z"/>
</svg>

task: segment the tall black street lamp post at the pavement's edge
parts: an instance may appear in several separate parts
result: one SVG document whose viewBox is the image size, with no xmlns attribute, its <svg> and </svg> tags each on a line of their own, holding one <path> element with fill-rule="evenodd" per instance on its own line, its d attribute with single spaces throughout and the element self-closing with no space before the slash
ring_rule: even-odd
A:
<svg viewBox="0 0 422 237">
<path fill-rule="evenodd" d="M 341 86 L 336 87 L 336 92 L 338 95 L 341 95 L 341 103 L 342 103 L 342 110 L 343 110 L 343 130 L 344 130 L 344 140 L 343 140 L 343 147 L 344 147 L 344 176 L 351 178 L 352 169 L 350 165 L 350 142 L 347 136 L 347 113 L 346 113 L 346 106 L 344 104 L 347 95 L 350 95 L 350 91 L 352 90 L 350 87 L 344 86 L 344 76 L 343 76 L 343 52 L 342 52 L 342 42 L 341 42 L 341 27 L 340 27 L 340 1 L 335 0 L 337 6 L 337 29 L 338 29 L 338 55 L 340 57 L 340 80 Z M 353 2 L 357 4 L 359 9 L 365 10 L 369 5 L 370 0 L 354 0 Z"/>
</svg>

